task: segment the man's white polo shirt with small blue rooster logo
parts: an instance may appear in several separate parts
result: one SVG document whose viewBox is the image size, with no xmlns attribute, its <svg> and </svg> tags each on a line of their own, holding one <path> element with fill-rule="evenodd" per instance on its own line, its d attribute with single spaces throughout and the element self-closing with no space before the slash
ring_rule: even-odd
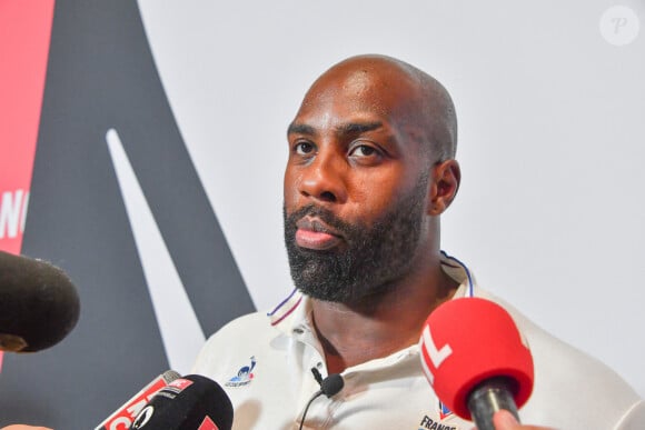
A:
<svg viewBox="0 0 645 430">
<path fill-rule="evenodd" d="M 514 308 L 480 290 L 468 269 L 444 256 L 444 271 L 460 286 L 457 297 L 502 304 L 530 346 L 535 384 L 519 410 L 523 422 L 562 430 L 644 430 L 645 401 L 614 371 L 539 329 Z M 305 407 L 319 390 L 311 368 L 327 376 L 322 348 L 311 326 L 311 306 L 294 291 L 268 316 L 238 318 L 206 342 L 194 373 L 217 381 L 235 409 L 234 429 L 298 429 Z M 304 429 L 472 429 L 441 410 L 423 373 L 418 344 L 347 368 L 345 387 L 314 400 Z"/>
</svg>

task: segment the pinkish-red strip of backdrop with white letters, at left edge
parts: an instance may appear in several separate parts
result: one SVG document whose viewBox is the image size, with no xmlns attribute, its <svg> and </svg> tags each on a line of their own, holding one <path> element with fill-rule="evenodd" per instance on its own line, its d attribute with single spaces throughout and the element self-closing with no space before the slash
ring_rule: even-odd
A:
<svg viewBox="0 0 645 430">
<path fill-rule="evenodd" d="M 12 253 L 22 246 L 53 3 L 0 0 L 0 249 Z"/>
</svg>

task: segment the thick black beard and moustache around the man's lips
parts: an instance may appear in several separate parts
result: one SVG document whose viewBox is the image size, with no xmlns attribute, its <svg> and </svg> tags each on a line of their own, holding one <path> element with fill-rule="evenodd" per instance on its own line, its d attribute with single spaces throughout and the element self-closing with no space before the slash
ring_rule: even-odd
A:
<svg viewBox="0 0 645 430">
<path fill-rule="evenodd" d="M 285 242 L 296 288 L 315 299 L 358 303 L 390 291 L 410 269 L 425 216 L 427 177 L 371 228 L 348 224 L 330 211 L 306 206 L 285 219 Z M 308 250 L 296 244 L 296 222 L 305 216 L 319 217 L 346 240 L 343 251 Z"/>
</svg>

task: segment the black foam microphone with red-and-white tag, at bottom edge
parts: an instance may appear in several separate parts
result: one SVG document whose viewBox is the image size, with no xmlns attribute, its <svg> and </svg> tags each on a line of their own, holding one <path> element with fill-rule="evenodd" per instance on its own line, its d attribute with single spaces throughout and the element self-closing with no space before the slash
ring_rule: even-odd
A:
<svg viewBox="0 0 645 430">
<path fill-rule="evenodd" d="M 230 430 L 232 404 L 224 389 L 200 374 L 163 387 L 141 409 L 130 430 Z"/>
</svg>

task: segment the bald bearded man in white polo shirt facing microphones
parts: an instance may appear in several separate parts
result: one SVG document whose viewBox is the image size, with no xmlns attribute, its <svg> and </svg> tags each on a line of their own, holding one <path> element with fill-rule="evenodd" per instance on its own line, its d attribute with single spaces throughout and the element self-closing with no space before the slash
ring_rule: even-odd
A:
<svg viewBox="0 0 645 430">
<path fill-rule="evenodd" d="M 316 373 L 341 373 L 345 386 L 311 402 L 304 428 L 470 429 L 441 408 L 418 349 L 427 316 L 465 296 L 503 304 L 528 339 L 536 381 L 524 421 L 645 428 L 645 403 L 615 373 L 482 291 L 440 251 L 439 217 L 460 180 L 456 142 L 449 94 L 407 63 L 355 57 L 312 84 L 289 126 L 284 184 L 297 290 L 268 318 L 214 334 L 194 369 L 227 390 L 235 429 L 298 428 Z"/>
</svg>

